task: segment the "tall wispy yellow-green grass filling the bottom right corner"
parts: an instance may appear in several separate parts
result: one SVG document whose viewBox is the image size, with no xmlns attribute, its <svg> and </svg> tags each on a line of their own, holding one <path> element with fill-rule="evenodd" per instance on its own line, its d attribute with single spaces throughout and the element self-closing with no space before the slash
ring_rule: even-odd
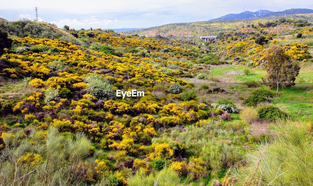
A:
<svg viewBox="0 0 313 186">
<path fill-rule="evenodd" d="M 313 185 L 312 134 L 305 124 L 279 120 L 275 131 L 276 137 L 267 145 L 255 177 L 260 178 L 263 172 L 261 185 Z M 252 176 L 265 145 L 261 144 L 255 153 L 246 156 L 247 166 L 233 170 L 236 185 L 243 185 Z"/>
</svg>

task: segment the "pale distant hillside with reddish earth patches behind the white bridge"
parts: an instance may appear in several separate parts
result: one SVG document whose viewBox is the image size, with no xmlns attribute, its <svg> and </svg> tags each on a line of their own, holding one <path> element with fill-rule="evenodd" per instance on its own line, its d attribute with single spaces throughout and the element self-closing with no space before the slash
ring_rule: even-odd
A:
<svg viewBox="0 0 313 186">
<path fill-rule="evenodd" d="M 302 19 L 308 22 L 313 22 L 313 14 L 298 14 L 286 15 L 287 19 Z M 217 20 L 217 21 L 203 21 L 190 23 L 172 23 L 158 27 L 144 28 L 141 30 L 121 32 L 124 35 L 146 35 L 155 36 L 161 35 L 169 38 L 177 38 L 182 36 L 201 36 L 201 35 L 217 35 L 219 32 L 235 31 L 246 24 L 258 24 L 258 22 L 267 22 L 285 18 L 285 16 L 268 17 L 260 19 L 240 19 L 240 20 Z M 174 36 L 174 37 L 173 37 Z M 192 38 L 184 38 L 185 40 L 192 40 Z"/>
</svg>

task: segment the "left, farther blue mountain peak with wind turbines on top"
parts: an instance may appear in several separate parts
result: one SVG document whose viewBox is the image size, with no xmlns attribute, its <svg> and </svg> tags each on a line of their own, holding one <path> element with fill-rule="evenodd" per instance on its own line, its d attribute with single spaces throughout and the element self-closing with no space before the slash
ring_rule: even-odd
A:
<svg viewBox="0 0 313 186">
<path fill-rule="evenodd" d="M 271 13 L 272 11 L 269 10 L 260 10 L 257 12 L 250 12 L 250 11 L 245 11 L 245 12 L 241 12 L 241 13 L 231 13 L 231 14 L 227 14 L 225 16 L 222 17 L 218 17 L 216 19 L 211 19 L 210 21 L 214 21 L 214 20 L 232 20 L 232 19 L 249 19 L 249 18 L 255 18 L 257 16 L 260 15 L 264 15 L 264 14 L 268 14 Z"/>
</svg>

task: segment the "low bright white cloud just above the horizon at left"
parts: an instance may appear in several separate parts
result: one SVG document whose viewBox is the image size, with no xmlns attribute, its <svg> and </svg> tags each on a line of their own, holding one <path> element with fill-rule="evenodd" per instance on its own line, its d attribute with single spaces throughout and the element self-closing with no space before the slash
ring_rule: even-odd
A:
<svg viewBox="0 0 313 186">
<path fill-rule="evenodd" d="M 74 28 L 104 28 L 110 26 L 111 23 L 118 22 L 117 19 L 99 19 L 95 16 L 90 16 L 87 19 L 77 20 L 77 19 L 61 19 L 59 21 L 51 21 L 51 24 L 56 24 L 58 27 L 63 27 L 64 25 L 69 25 Z"/>
</svg>

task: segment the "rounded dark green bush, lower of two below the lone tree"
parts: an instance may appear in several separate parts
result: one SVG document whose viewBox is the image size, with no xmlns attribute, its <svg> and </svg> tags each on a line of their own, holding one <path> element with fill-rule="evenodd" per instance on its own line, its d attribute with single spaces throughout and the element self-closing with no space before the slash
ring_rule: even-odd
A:
<svg viewBox="0 0 313 186">
<path fill-rule="evenodd" d="M 258 108 L 258 116 L 262 120 L 275 121 L 287 118 L 289 115 L 273 105 L 264 105 Z"/>
</svg>

